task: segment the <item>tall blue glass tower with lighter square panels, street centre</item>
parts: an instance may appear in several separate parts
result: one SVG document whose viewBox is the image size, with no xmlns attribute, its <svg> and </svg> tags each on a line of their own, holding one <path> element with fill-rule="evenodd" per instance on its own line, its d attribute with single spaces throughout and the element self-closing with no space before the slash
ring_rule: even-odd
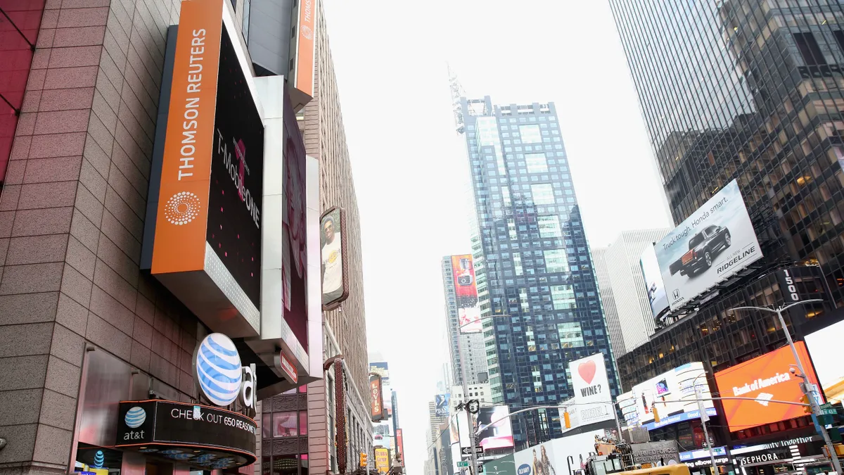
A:
<svg viewBox="0 0 844 475">
<path fill-rule="evenodd" d="M 568 363 L 612 350 L 553 103 L 493 106 L 460 97 L 478 236 L 484 254 L 495 401 L 513 409 L 573 396 Z M 517 445 L 560 434 L 558 414 L 513 418 Z"/>
</svg>

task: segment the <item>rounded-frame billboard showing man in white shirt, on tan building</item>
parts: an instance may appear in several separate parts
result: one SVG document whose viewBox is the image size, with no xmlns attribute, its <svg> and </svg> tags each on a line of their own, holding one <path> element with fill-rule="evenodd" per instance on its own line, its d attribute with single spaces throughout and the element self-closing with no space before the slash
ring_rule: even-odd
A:
<svg viewBox="0 0 844 475">
<path fill-rule="evenodd" d="M 349 298 L 349 272 L 346 258 L 346 214 L 334 207 L 320 218 L 322 254 L 322 309 L 337 308 Z"/>
</svg>

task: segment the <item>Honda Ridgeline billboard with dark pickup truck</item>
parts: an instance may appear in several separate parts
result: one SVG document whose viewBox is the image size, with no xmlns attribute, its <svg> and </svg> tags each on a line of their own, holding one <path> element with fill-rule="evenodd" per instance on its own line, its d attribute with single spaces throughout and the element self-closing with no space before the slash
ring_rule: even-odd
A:
<svg viewBox="0 0 844 475">
<path fill-rule="evenodd" d="M 762 257 L 735 180 L 669 232 L 654 250 L 672 310 Z"/>
</svg>

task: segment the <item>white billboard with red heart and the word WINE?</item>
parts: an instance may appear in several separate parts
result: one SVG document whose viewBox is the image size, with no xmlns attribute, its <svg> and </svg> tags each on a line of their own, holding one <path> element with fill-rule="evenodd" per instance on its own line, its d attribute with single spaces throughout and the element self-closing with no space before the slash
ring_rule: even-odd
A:
<svg viewBox="0 0 844 475">
<path fill-rule="evenodd" d="M 569 363 L 571 385 L 575 392 L 577 421 L 579 425 L 599 423 L 615 418 L 610 393 L 607 366 L 603 353 Z M 563 428 L 565 431 L 565 427 Z"/>
</svg>

